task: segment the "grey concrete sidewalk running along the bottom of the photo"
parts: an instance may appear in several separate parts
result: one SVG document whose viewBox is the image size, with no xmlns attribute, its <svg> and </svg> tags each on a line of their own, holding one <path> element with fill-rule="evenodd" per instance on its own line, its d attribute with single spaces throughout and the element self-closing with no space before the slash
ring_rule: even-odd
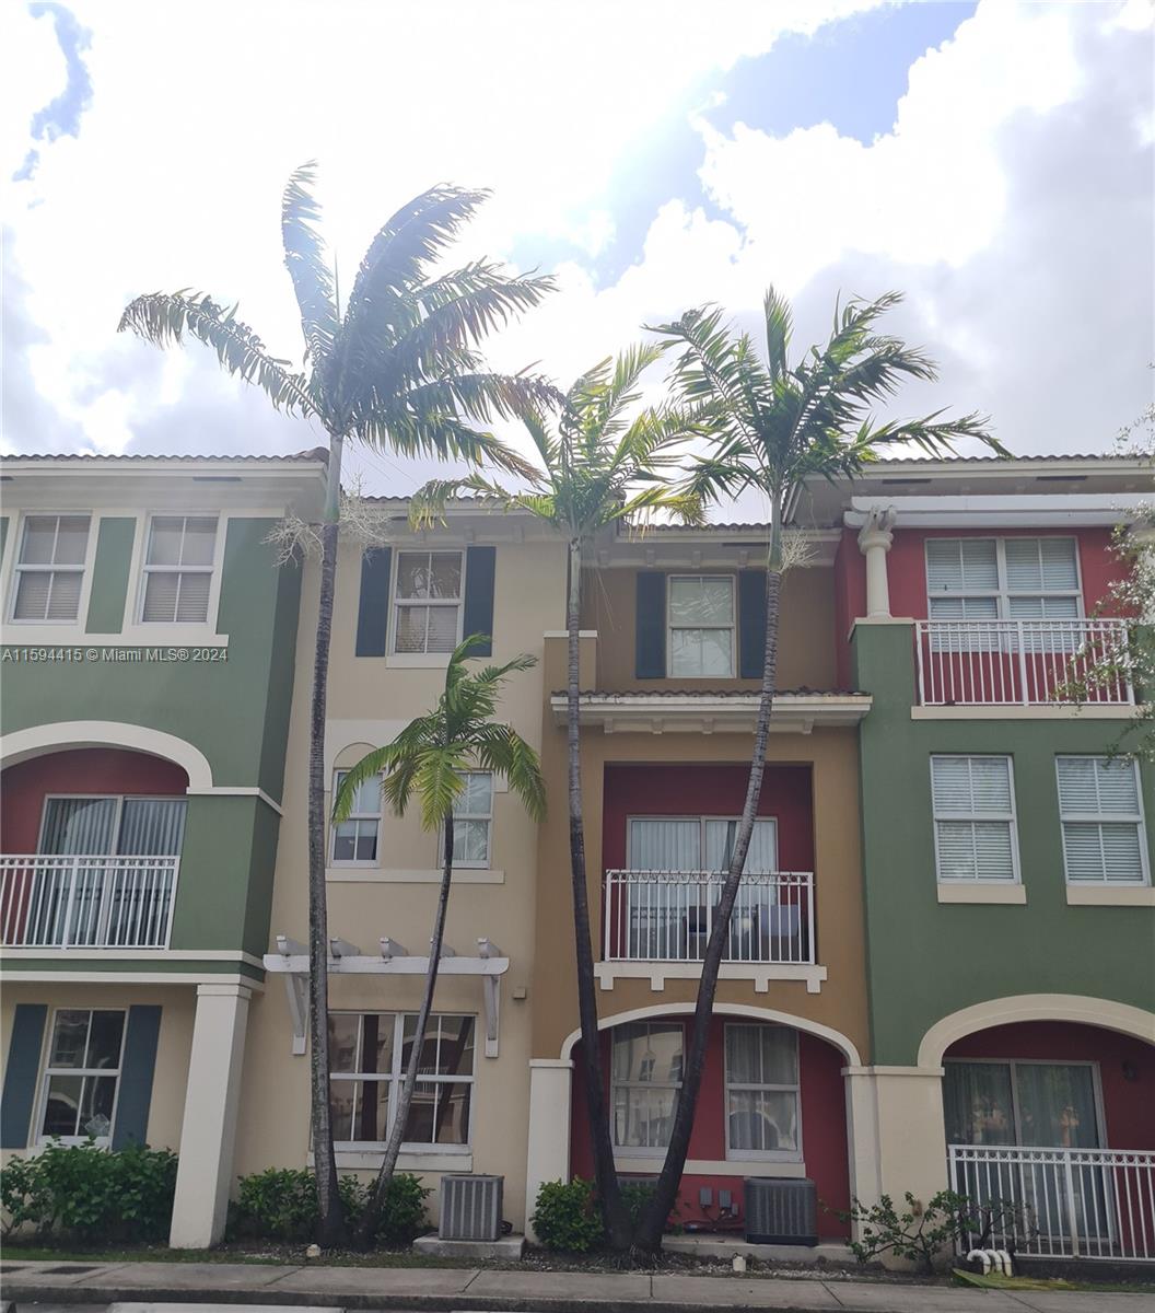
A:
<svg viewBox="0 0 1155 1313">
<path fill-rule="evenodd" d="M 259 1263 L 3 1264 L 4 1299 L 304 1305 L 478 1313 L 686 1313 L 721 1309 L 843 1313 L 1155 1313 L 1155 1295 L 1033 1292 L 627 1272 L 507 1272 L 436 1267 L 290 1267 Z"/>
</svg>

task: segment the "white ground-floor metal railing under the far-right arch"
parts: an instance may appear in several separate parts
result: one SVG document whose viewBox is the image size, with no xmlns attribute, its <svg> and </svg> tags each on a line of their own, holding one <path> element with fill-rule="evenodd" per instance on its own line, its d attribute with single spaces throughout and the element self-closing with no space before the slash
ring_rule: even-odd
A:
<svg viewBox="0 0 1155 1313">
<path fill-rule="evenodd" d="M 948 1155 L 952 1190 L 979 1212 L 999 1205 L 995 1249 L 1155 1262 L 1155 1152 L 950 1145 Z"/>
</svg>

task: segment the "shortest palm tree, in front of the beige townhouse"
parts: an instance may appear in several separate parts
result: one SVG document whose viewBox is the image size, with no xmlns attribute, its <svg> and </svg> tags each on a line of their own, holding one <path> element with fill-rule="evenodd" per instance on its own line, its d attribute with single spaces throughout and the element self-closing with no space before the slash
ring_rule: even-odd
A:
<svg viewBox="0 0 1155 1313">
<path fill-rule="evenodd" d="M 472 634 L 458 645 L 449 658 L 445 692 L 437 706 L 410 721 L 391 743 L 364 756 L 341 781 L 333 800 L 333 819 L 344 821 L 353 806 L 357 789 L 366 780 L 381 775 L 382 796 L 396 815 L 406 814 L 406 807 L 416 793 L 421 806 L 421 825 L 427 830 L 442 832 L 441 893 L 433 919 L 433 937 L 429 941 L 425 993 L 417 1012 L 417 1027 L 381 1173 L 357 1228 L 357 1238 L 362 1243 L 371 1243 L 377 1233 L 417 1083 L 417 1066 L 425 1045 L 425 1028 L 433 1007 L 433 990 L 437 987 L 437 968 L 445 939 L 445 915 L 453 880 L 453 810 L 463 788 L 462 773 L 469 769 L 500 772 L 534 821 L 539 821 L 546 810 L 546 790 L 537 752 L 511 726 L 494 722 L 497 695 L 505 678 L 513 671 L 530 670 L 537 662 L 533 656 L 514 656 L 504 666 L 486 666 L 476 674 L 470 674 L 466 658 L 483 642 L 488 642 L 484 634 Z"/>
</svg>

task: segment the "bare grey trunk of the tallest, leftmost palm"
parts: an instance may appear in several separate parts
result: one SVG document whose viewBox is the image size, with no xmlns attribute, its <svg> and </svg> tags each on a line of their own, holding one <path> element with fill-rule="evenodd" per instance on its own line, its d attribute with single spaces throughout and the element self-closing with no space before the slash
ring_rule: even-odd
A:
<svg viewBox="0 0 1155 1313">
<path fill-rule="evenodd" d="M 329 1116 L 329 931 L 326 906 L 324 734 L 333 628 L 333 584 L 341 506 L 341 439 L 331 435 L 328 487 L 322 524 L 320 596 L 316 608 L 316 655 L 308 720 L 308 1040 L 311 1060 L 312 1158 L 316 1173 L 318 1241 L 326 1249 L 345 1243 L 345 1212 L 337 1188 L 337 1159 Z"/>
</svg>

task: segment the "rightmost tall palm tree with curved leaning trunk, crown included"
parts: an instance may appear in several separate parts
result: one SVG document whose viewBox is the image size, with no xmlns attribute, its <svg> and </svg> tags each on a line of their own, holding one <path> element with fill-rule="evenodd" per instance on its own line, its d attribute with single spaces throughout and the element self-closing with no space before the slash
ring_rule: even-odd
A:
<svg viewBox="0 0 1155 1313">
<path fill-rule="evenodd" d="M 1005 454 L 976 415 L 942 420 L 942 411 L 936 411 L 921 419 L 886 423 L 872 418 L 872 407 L 889 398 L 904 378 L 936 377 L 933 362 L 921 351 L 877 332 L 878 319 L 899 301 L 896 293 L 887 293 L 877 301 L 852 301 L 841 311 L 836 307 L 827 344 L 812 348 L 793 368 L 788 361 L 790 307 L 773 288 L 764 302 L 765 360 L 759 357 L 747 334 L 735 334 L 723 324 L 718 307 L 690 310 L 675 323 L 654 330 L 665 349 L 677 352 L 673 366 L 677 393 L 709 418 L 710 450 L 692 467 L 688 491 L 709 502 L 723 492 L 757 488 L 769 502 L 770 541 L 765 658 L 746 802 L 702 961 L 693 1033 L 665 1161 L 635 1236 L 642 1250 L 660 1247 L 685 1167 L 718 969 L 761 794 L 777 672 L 786 506 L 803 479 L 852 477 L 877 460 L 881 449 L 899 442 L 941 453 L 954 440 L 969 437 Z"/>
</svg>

